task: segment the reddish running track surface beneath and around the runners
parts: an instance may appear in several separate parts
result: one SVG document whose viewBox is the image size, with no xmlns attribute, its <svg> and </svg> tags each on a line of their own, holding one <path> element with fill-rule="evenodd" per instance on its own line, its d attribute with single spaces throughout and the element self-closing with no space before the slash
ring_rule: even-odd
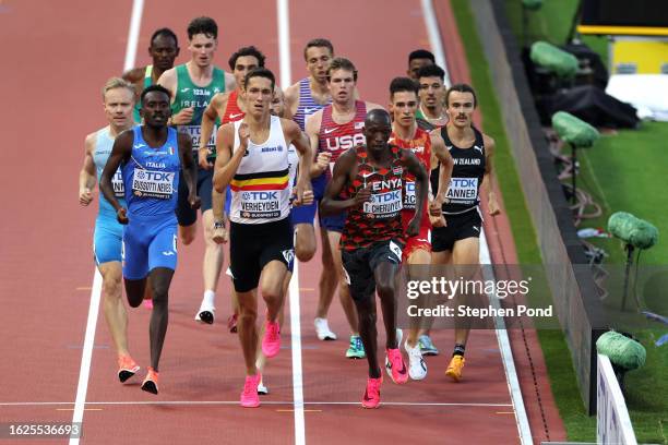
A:
<svg viewBox="0 0 668 445">
<path fill-rule="evenodd" d="M 67 422 L 76 396 L 94 270 L 95 208 L 79 206 L 76 176 L 85 134 L 105 124 L 99 88 L 121 72 L 132 2 L 100 8 L 73 0 L 5 1 L 0 7 L 0 48 L 5 67 L 11 68 L 3 71 L 0 83 L 0 97 L 11 104 L 0 111 L 3 129 L 9 129 L 0 141 L 4 147 L 19 148 L 3 151 L 5 172 L 0 179 L 0 193 L 9 203 L 0 228 L 4 302 L 0 320 L 5 333 L 1 370 L 12 377 L 0 384 L 0 422 Z M 289 7 L 293 82 L 306 75 L 302 46 L 323 36 L 332 39 L 338 55 L 357 64 L 362 98 L 385 105 L 386 86 L 405 73 L 407 53 L 428 47 L 418 0 L 363 4 L 294 0 Z M 276 5 L 269 0 L 253 3 L 251 14 L 211 0 L 191 1 L 188 7 L 174 0 L 147 1 L 136 65 L 147 61 L 150 35 L 162 26 L 177 32 L 178 62 L 186 61 L 184 28 L 196 15 L 218 21 L 218 65 L 227 68 L 229 53 L 252 44 L 267 55 L 267 67 L 278 72 Z M 82 443 L 296 443 L 289 323 L 284 350 L 265 373 L 271 394 L 262 398 L 261 408 L 241 409 L 240 347 L 224 326 L 226 278 L 218 290 L 216 324 L 203 326 L 192 320 L 202 291 L 201 234 L 194 245 L 179 251 L 158 397 L 140 390 L 143 373 L 129 384 L 118 384 L 115 353 L 99 315 Z M 315 260 L 299 266 L 306 443 L 517 443 L 493 332 L 472 335 L 462 383 L 444 377 L 444 353 L 429 359 L 426 381 L 398 387 L 386 380 L 382 409 L 362 410 L 366 362 L 344 358 L 347 328 L 336 299 L 330 317 L 341 339 L 322 342 L 314 336 L 319 272 Z M 143 308 L 130 311 L 130 348 L 144 368 L 148 315 Z M 437 332 L 434 341 L 446 352 L 452 334 Z"/>
</svg>

